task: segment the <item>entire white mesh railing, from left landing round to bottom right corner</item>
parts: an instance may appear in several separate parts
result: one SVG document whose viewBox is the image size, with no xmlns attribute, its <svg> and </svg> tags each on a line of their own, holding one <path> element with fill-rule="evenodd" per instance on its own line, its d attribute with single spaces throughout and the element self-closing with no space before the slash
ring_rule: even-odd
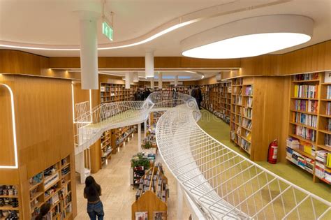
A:
<svg viewBox="0 0 331 220">
<path fill-rule="evenodd" d="M 80 111 L 75 120 L 76 152 L 92 145 L 103 131 L 142 123 L 158 110 L 166 110 L 156 125 L 159 152 L 205 219 L 330 219 L 330 202 L 258 166 L 200 129 L 196 124 L 200 111 L 186 94 L 159 91 L 146 101 Z"/>
</svg>

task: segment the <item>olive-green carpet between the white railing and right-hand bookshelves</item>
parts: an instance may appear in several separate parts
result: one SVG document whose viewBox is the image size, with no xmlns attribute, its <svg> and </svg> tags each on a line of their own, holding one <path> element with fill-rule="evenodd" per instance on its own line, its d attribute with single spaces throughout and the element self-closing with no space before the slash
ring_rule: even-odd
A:
<svg viewBox="0 0 331 220">
<path fill-rule="evenodd" d="M 212 135 L 212 137 L 216 140 L 219 140 L 219 142 L 223 143 L 223 145 L 234 149 L 236 152 L 240 152 L 240 154 L 247 156 L 248 158 L 246 153 L 240 151 L 239 147 L 235 146 L 233 142 L 230 142 L 230 128 L 228 124 L 223 122 L 221 119 L 218 119 L 207 110 L 201 110 L 201 113 L 202 118 L 198 124 L 204 131 L 206 131 L 209 135 Z M 304 172 L 304 170 L 298 166 L 291 163 L 270 164 L 267 163 L 267 161 L 260 161 L 256 163 L 263 166 L 267 170 L 272 171 L 272 173 L 275 173 L 292 182 L 293 184 L 296 184 L 297 186 L 300 186 L 303 189 L 331 202 L 331 186 L 323 182 L 314 183 L 312 175 Z"/>
</svg>

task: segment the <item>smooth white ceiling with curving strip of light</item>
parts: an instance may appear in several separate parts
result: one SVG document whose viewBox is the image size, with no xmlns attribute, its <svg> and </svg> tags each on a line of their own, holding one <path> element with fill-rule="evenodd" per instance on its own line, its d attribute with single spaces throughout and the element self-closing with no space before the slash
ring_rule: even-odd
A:
<svg viewBox="0 0 331 220">
<path fill-rule="evenodd" d="M 82 1 L 98 0 L 0 0 L 0 44 L 2 41 L 39 45 L 78 46 L 79 18 L 75 10 Z M 272 0 L 106 0 L 105 11 L 115 12 L 115 43 L 138 38 L 166 24 L 176 17 L 197 10 L 228 3 L 233 9 L 257 5 Z M 277 0 L 273 0 L 277 1 Z M 230 2 L 230 3 L 229 3 Z M 231 3 L 232 2 L 232 3 Z M 226 8 L 224 6 L 223 8 Z M 230 10 L 229 10 L 230 11 Z M 206 18 L 171 31 L 148 43 L 114 50 L 99 50 L 101 57 L 142 57 L 145 50 L 155 50 L 155 56 L 181 56 L 180 41 L 206 29 L 239 20 L 244 17 L 274 14 L 306 15 L 314 19 L 314 36 L 309 43 L 282 50 L 284 53 L 300 47 L 314 45 L 331 39 L 331 0 L 293 0 L 226 15 Z M 108 43 L 101 34 L 98 21 L 98 43 Z M 0 47 L 5 49 L 6 47 Z M 79 51 L 24 50 L 47 57 L 79 56 Z"/>
</svg>

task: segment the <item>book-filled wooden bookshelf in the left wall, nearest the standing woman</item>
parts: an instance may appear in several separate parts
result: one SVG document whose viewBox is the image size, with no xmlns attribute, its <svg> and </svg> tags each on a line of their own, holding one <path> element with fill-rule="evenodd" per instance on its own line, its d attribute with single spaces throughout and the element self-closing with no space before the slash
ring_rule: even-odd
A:
<svg viewBox="0 0 331 220">
<path fill-rule="evenodd" d="M 51 204 L 49 219 L 72 218 L 71 156 L 66 156 L 29 180 L 30 212 L 34 219 L 45 203 Z"/>
</svg>

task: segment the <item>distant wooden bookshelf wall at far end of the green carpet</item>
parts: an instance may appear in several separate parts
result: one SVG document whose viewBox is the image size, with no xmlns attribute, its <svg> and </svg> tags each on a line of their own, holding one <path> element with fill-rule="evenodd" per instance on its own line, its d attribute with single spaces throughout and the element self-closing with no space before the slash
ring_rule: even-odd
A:
<svg viewBox="0 0 331 220">
<path fill-rule="evenodd" d="M 203 108 L 230 123 L 231 82 L 203 85 Z"/>
</svg>

